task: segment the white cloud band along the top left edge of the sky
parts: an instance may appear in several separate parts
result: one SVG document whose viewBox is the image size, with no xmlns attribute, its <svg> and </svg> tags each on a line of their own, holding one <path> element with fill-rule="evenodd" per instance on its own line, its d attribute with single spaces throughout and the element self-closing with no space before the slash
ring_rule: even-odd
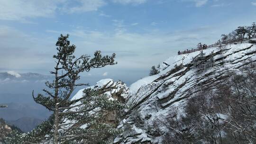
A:
<svg viewBox="0 0 256 144">
<path fill-rule="evenodd" d="M 104 0 L 0 0 L 0 19 L 27 22 L 27 18 L 54 17 L 56 10 L 82 13 L 105 4 Z"/>
</svg>

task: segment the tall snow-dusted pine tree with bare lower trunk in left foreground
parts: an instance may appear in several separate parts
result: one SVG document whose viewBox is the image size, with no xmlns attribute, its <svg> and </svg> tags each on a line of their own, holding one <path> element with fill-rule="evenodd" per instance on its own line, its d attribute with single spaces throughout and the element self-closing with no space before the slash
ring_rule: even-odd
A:
<svg viewBox="0 0 256 144">
<path fill-rule="evenodd" d="M 95 136 L 99 136 L 98 139 L 102 140 L 102 137 L 115 133 L 116 129 L 112 125 L 100 123 L 100 115 L 102 114 L 92 115 L 93 111 L 100 109 L 118 110 L 121 105 L 116 100 L 111 101 L 106 96 L 99 96 L 99 93 L 94 90 L 84 91 L 84 97 L 81 99 L 70 100 L 70 97 L 76 87 L 89 85 L 76 83 L 80 79 L 79 74 L 81 72 L 89 72 L 93 68 L 116 64 L 114 62 L 115 54 L 102 56 L 101 51 L 96 51 L 93 58 L 87 54 L 76 58 L 73 55 L 76 46 L 70 45 L 68 37 L 69 35 L 61 35 L 56 43 L 57 54 L 53 56 L 55 58 L 55 71 L 50 72 L 55 76 L 55 80 L 46 81 L 48 90 L 43 90 L 46 92 L 45 95 L 39 93 L 35 97 L 33 91 L 33 98 L 38 104 L 54 112 L 53 144 L 78 143 L 82 139 L 91 140 L 92 143 L 90 144 L 94 144 L 93 140 L 97 139 Z M 76 104 L 78 101 L 82 101 L 82 103 Z M 69 111 L 69 109 L 74 108 L 76 110 Z M 63 124 L 65 119 L 70 120 Z M 63 128 L 73 125 L 74 121 L 80 122 L 80 125 L 87 124 L 89 128 L 83 129 L 79 126 L 73 126 L 70 130 Z M 102 129 L 102 133 L 99 129 Z M 106 129 L 109 132 L 106 132 Z"/>
</svg>

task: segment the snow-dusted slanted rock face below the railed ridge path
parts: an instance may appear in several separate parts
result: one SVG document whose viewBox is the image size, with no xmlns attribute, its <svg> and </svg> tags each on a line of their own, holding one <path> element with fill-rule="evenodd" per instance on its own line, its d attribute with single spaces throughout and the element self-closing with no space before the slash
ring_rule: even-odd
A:
<svg viewBox="0 0 256 144">
<path fill-rule="evenodd" d="M 203 53 L 201 63 L 195 62 L 200 52 L 171 57 L 162 63 L 159 74 L 129 87 L 128 113 L 118 126 L 124 133 L 115 144 L 161 144 L 165 129 L 160 132 L 155 120 L 165 119 L 174 110 L 177 117 L 186 115 L 184 106 L 193 93 L 223 82 L 249 59 L 256 62 L 256 45 L 248 43 L 213 47 Z M 199 72 L 198 65 L 210 60 L 212 66 Z"/>
</svg>

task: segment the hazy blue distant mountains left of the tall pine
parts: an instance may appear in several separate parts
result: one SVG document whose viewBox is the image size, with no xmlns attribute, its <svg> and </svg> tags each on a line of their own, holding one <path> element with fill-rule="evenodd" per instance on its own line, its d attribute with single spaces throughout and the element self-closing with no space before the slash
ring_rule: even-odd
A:
<svg viewBox="0 0 256 144">
<path fill-rule="evenodd" d="M 0 72 L 0 102 L 8 105 L 0 110 L 0 117 L 24 132 L 31 131 L 51 115 L 35 103 L 32 90 L 40 92 L 45 88 L 45 81 L 52 79 L 52 76 L 32 72 Z"/>
</svg>

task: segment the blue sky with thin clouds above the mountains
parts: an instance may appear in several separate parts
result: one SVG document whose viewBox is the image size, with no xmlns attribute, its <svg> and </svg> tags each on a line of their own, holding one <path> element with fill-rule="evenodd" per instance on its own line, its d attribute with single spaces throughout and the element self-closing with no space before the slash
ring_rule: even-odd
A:
<svg viewBox="0 0 256 144">
<path fill-rule="evenodd" d="M 83 76 L 130 84 L 178 50 L 254 21 L 256 0 L 0 0 L 0 72 L 47 74 L 68 33 L 77 55 L 117 54 L 117 65 Z"/>
</svg>

